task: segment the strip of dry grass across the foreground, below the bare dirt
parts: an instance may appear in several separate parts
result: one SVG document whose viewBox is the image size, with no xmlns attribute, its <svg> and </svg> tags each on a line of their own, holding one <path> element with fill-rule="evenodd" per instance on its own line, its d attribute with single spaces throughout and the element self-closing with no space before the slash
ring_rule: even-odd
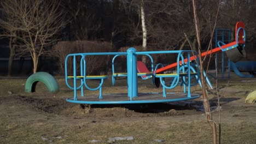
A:
<svg viewBox="0 0 256 144">
<path fill-rule="evenodd" d="M 71 123 L 76 123 L 75 120 Z M 164 125 L 162 123 L 165 123 Z M 168 122 L 80 122 L 77 124 L 52 123 L 8 123 L 1 119 L 1 143 L 45 143 L 42 137 L 54 143 L 89 143 L 91 140 L 104 141 L 109 137 L 133 136 L 132 141 L 117 143 L 154 143 L 154 140 L 165 140 L 164 143 L 211 143 L 208 123 L 195 121 L 191 123 Z M 255 126 L 249 123 L 222 125 L 222 143 L 254 143 Z M 50 131 L 50 133 L 49 133 Z M 57 139 L 62 136 L 63 139 Z"/>
</svg>

